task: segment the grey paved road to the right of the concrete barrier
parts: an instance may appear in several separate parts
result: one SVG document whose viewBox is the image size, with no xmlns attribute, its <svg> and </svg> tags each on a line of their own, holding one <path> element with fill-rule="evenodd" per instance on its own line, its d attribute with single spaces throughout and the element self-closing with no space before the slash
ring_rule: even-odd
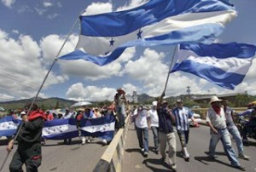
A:
<svg viewBox="0 0 256 172">
<path fill-rule="evenodd" d="M 181 146 L 177 137 L 177 171 L 182 172 L 231 172 L 240 171 L 230 167 L 228 158 L 224 155 L 221 142 L 218 143 L 216 149 L 218 158 L 215 161 L 207 158 L 207 150 L 210 140 L 209 128 L 200 126 L 200 128 L 190 129 L 188 150 L 191 155 L 190 161 L 185 162 L 181 155 Z M 233 146 L 236 143 L 233 141 Z M 149 130 L 149 150 L 154 146 L 152 131 Z M 236 150 L 236 147 L 235 147 Z M 256 171 L 256 144 L 245 146 L 245 152 L 251 157 L 250 161 L 240 159 L 241 165 L 245 166 L 247 171 Z M 137 135 L 134 130 L 133 123 L 129 126 L 128 135 L 126 137 L 125 156 L 123 160 L 123 172 L 131 171 L 171 171 L 167 168 L 166 163 L 161 163 L 160 155 L 149 151 L 148 158 L 143 158 L 138 147 Z"/>
</svg>

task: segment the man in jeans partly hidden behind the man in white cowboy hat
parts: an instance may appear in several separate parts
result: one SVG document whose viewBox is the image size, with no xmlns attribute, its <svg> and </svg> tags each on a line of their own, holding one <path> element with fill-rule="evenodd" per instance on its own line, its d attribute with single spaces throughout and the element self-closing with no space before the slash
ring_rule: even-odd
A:
<svg viewBox="0 0 256 172">
<path fill-rule="evenodd" d="M 224 106 L 227 129 L 229 130 L 230 135 L 232 135 L 233 138 L 236 140 L 238 158 L 249 160 L 250 158 L 246 156 L 243 152 L 243 143 L 241 140 L 241 135 L 236 127 L 236 124 L 234 123 L 234 119 L 233 119 L 234 111 L 230 108 L 230 106 L 228 106 L 228 100 L 224 99 L 222 103 Z"/>
</svg>

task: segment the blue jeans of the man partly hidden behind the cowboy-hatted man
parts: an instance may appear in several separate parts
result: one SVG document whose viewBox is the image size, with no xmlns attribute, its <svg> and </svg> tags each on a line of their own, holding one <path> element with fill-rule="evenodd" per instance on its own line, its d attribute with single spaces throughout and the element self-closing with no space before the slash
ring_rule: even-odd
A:
<svg viewBox="0 0 256 172">
<path fill-rule="evenodd" d="M 230 132 L 230 135 L 233 136 L 233 138 L 236 140 L 236 146 L 237 146 L 237 150 L 239 154 L 243 154 L 243 144 L 242 144 L 242 140 L 241 140 L 241 135 L 240 132 L 238 131 L 236 125 L 230 124 L 228 125 L 227 128 Z"/>
</svg>

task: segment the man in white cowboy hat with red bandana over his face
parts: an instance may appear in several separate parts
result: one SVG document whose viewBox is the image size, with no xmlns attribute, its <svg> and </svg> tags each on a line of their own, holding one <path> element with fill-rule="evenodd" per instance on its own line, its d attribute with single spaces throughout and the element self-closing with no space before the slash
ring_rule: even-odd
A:
<svg viewBox="0 0 256 172">
<path fill-rule="evenodd" d="M 245 168 L 241 167 L 241 164 L 238 162 L 236 152 L 231 145 L 230 134 L 226 125 L 224 108 L 221 105 L 222 101 L 223 100 L 218 99 L 218 97 L 214 95 L 209 102 L 211 105 L 207 111 L 207 123 L 211 129 L 209 157 L 213 159 L 215 158 L 215 148 L 218 144 L 218 140 L 221 140 L 224 146 L 224 151 L 230 159 L 231 166 L 245 171 Z"/>
</svg>

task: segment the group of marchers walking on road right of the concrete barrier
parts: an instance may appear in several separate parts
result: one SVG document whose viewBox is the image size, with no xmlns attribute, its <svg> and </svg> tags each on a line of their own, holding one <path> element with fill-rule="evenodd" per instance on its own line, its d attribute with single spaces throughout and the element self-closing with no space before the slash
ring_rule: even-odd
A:
<svg viewBox="0 0 256 172">
<path fill-rule="evenodd" d="M 152 102 L 148 110 L 146 106 L 133 106 L 131 122 L 135 123 L 138 145 L 145 158 L 148 157 L 148 130 L 151 129 L 154 140 L 154 152 L 159 153 L 161 160 L 169 164 L 170 169 L 177 170 L 176 154 L 177 141 L 174 127 L 182 147 L 183 158 L 189 161 L 190 154 L 187 148 L 189 142 L 189 118 L 195 122 L 193 112 L 183 106 L 183 100 L 176 100 L 176 106 L 168 106 L 168 102 L 160 96 L 159 100 Z M 233 110 L 228 106 L 228 100 L 220 100 L 212 96 L 207 111 L 207 124 L 210 127 L 211 138 L 209 141 L 208 156 L 215 158 L 215 148 L 218 140 L 222 141 L 224 152 L 230 160 L 232 167 L 245 170 L 238 158 L 249 160 L 244 153 L 241 135 L 233 120 Z M 236 140 L 238 154 L 233 149 L 230 135 Z M 166 152 L 167 147 L 167 152 Z"/>
</svg>

